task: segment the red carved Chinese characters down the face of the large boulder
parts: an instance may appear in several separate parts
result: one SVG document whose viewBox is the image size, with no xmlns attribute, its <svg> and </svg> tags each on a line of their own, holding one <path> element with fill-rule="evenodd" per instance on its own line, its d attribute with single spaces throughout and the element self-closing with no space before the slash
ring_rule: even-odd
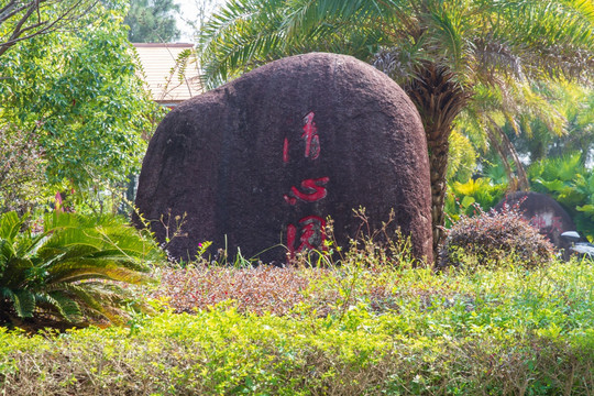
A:
<svg viewBox="0 0 594 396">
<path fill-rule="evenodd" d="M 309 112 L 304 118 L 304 133 L 301 139 L 305 141 L 305 157 L 317 160 L 320 156 L 320 136 L 318 128 L 314 122 L 314 112 Z M 283 162 L 286 164 L 289 161 L 289 141 L 285 138 L 283 143 Z M 290 187 L 290 191 L 285 194 L 283 198 L 292 206 L 297 204 L 297 200 L 304 202 L 316 202 L 326 198 L 328 191 L 326 185 L 330 178 L 318 177 L 308 178 L 300 183 L 300 188 Z M 287 249 L 289 256 L 294 257 L 296 252 L 302 250 L 322 249 L 326 240 L 326 221 L 319 216 L 307 216 L 298 221 L 298 226 L 287 226 Z M 296 246 L 297 245 L 297 246 Z"/>
</svg>

